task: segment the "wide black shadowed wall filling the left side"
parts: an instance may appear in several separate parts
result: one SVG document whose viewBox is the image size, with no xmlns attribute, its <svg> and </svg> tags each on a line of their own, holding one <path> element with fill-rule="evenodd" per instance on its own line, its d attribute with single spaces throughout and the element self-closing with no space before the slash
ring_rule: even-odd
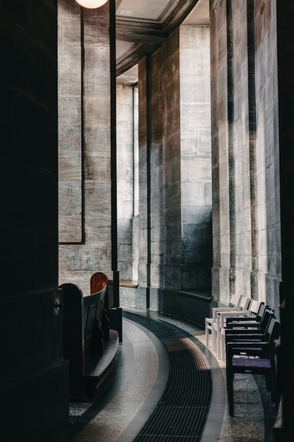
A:
<svg viewBox="0 0 294 442">
<path fill-rule="evenodd" d="M 57 0 L 1 1 L 3 440 L 46 441 L 68 420 L 58 290 Z"/>
</svg>

